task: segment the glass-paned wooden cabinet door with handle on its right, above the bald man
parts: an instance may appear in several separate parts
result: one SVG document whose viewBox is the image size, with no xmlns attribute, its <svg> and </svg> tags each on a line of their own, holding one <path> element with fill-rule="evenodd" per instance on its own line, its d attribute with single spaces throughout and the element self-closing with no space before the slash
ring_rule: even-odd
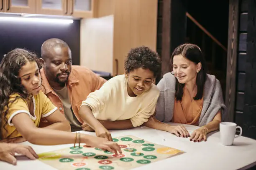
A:
<svg viewBox="0 0 256 170">
<path fill-rule="evenodd" d="M 69 15 L 68 0 L 37 0 L 36 13 L 46 15 Z"/>
</svg>

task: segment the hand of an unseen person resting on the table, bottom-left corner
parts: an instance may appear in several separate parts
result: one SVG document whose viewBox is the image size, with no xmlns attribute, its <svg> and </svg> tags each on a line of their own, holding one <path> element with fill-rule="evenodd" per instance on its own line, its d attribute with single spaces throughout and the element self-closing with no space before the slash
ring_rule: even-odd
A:
<svg viewBox="0 0 256 170">
<path fill-rule="evenodd" d="M 38 158 L 38 155 L 30 146 L 14 143 L 0 143 L 0 160 L 17 165 L 17 160 L 14 157 L 15 153 L 26 155 L 26 157 L 31 160 Z"/>
</svg>

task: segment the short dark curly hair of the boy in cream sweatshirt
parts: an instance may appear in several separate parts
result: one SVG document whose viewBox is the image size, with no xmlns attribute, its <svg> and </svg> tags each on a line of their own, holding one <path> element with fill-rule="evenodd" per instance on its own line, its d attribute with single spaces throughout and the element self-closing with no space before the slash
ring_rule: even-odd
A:
<svg viewBox="0 0 256 170">
<path fill-rule="evenodd" d="M 125 59 L 125 72 L 129 73 L 137 68 L 149 69 L 154 77 L 161 72 L 161 60 L 157 52 L 149 47 L 132 48 Z"/>
</svg>

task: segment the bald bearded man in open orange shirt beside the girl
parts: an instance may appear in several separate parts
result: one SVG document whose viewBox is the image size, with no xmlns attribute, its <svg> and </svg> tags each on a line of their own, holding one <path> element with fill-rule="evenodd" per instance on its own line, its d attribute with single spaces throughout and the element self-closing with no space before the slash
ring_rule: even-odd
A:
<svg viewBox="0 0 256 170">
<path fill-rule="evenodd" d="M 60 39 L 51 38 L 43 43 L 40 60 L 43 63 L 42 91 L 65 115 L 72 131 L 82 130 L 79 107 L 90 92 L 99 89 L 106 80 L 87 67 L 72 66 L 71 50 Z M 46 120 L 42 120 L 40 127 L 45 125 Z"/>
</svg>

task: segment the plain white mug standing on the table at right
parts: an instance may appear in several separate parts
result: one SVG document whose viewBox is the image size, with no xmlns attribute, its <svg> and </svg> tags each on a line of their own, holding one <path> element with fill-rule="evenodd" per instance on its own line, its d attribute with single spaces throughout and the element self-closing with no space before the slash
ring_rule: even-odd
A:
<svg viewBox="0 0 256 170">
<path fill-rule="evenodd" d="M 236 135 L 236 129 L 240 129 L 239 135 Z M 220 123 L 220 142 L 222 145 L 232 145 L 235 138 L 242 135 L 242 128 L 233 122 Z"/>
</svg>

